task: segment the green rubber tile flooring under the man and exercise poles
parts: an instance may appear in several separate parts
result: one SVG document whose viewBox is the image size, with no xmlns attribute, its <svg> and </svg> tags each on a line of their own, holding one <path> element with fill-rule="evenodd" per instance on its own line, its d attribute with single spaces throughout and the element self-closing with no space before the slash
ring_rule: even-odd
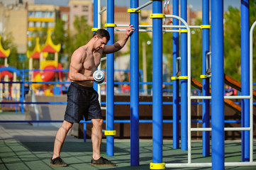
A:
<svg viewBox="0 0 256 170">
<path fill-rule="evenodd" d="M 256 147 L 255 145 L 254 147 Z M 68 166 L 52 167 L 49 165 L 52 149 L 53 142 L 1 141 L 0 169 L 150 169 L 150 162 L 152 162 L 152 142 L 150 140 L 140 142 L 140 166 L 130 166 L 130 142 L 127 140 L 115 142 L 114 157 L 106 156 L 106 142 L 101 145 L 101 156 L 115 162 L 117 164 L 116 167 L 90 166 L 91 142 L 65 142 L 62 147 L 61 157 Z M 240 142 L 226 142 L 225 152 L 226 162 L 240 162 Z M 255 150 L 254 157 L 256 157 Z M 163 162 L 167 164 L 186 163 L 187 151 L 172 149 L 172 142 L 165 141 L 163 145 Z M 192 162 L 211 162 L 211 157 L 201 156 L 201 142 L 192 142 Z M 256 169 L 256 166 L 232 166 L 226 167 L 226 169 Z"/>
</svg>

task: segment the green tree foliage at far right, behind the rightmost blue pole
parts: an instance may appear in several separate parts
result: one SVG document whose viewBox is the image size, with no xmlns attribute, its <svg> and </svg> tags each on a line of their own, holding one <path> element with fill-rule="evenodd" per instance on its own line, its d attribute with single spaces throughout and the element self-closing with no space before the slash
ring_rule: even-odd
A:
<svg viewBox="0 0 256 170">
<path fill-rule="evenodd" d="M 250 26 L 256 18 L 256 1 L 250 0 Z M 224 71 L 229 76 L 241 79 L 241 22 L 240 10 L 229 7 L 228 12 L 224 14 Z M 253 67 L 256 67 L 256 36 L 253 37 Z M 254 75 L 256 70 L 253 69 Z M 256 81 L 254 77 L 253 81 Z"/>
</svg>

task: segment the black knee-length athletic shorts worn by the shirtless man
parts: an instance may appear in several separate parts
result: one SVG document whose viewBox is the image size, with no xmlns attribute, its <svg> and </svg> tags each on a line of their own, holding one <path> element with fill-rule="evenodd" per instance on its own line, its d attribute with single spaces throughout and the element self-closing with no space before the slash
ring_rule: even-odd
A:
<svg viewBox="0 0 256 170">
<path fill-rule="evenodd" d="M 93 87 L 72 82 L 67 91 L 67 108 L 64 120 L 79 123 L 80 120 L 102 119 L 99 95 Z"/>
</svg>

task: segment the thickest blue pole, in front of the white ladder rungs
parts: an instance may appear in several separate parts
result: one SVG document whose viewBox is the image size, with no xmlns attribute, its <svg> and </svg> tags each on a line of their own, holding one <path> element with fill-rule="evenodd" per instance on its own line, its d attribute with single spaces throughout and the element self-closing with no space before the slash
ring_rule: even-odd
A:
<svg viewBox="0 0 256 170">
<path fill-rule="evenodd" d="M 223 0 L 211 1 L 212 169 L 224 169 Z"/>
</svg>

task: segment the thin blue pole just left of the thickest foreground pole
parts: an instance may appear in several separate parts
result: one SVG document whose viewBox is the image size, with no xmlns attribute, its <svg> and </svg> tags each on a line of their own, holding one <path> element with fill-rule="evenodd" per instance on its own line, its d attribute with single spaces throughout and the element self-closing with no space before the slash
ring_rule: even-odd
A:
<svg viewBox="0 0 256 170">
<path fill-rule="evenodd" d="M 202 25 L 209 25 L 209 0 L 203 0 L 203 16 Z M 209 29 L 202 29 L 202 74 L 206 75 L 206 54 L 209 52 Z M 208 63 L 207 63 L 208 64 Z M 209 79 L 202 79 L 202 93 L 203 96 L 209 96 Z M 210 101 L 203 100 L 203 128 L 209 128 L 210 125 Z M 210 155 L 210 132 L 203 132 L 203 156 Z"/>
</svg>

